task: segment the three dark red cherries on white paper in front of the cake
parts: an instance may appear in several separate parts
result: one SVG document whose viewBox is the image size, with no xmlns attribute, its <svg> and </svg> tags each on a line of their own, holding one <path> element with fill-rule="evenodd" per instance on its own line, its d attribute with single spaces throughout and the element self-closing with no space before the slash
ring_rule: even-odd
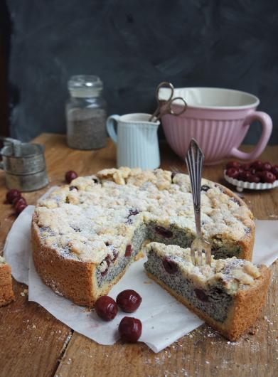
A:
<svg viewBox="0 0 278 377">
<path fill-rule="evenodd" d="M 116 301 L 109 296 L 101 296 L 95 302 L 97 315 L 105 321 L 111 321 L 116 317 L 118 306 L 123 312 L 133 313 L 141 304 L 141 296 L 134 290 L 124 290 L 117 295 Z M 123 341 L 135 343 L 141 336 L 142 324 L 140 319 L 124 317 L 119 322 L 119 336 Z"/>
</svg>

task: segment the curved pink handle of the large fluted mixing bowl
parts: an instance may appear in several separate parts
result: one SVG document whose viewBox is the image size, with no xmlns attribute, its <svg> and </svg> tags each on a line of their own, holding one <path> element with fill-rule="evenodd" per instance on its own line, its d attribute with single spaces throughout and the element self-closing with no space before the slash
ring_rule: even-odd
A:
<svg viewBox="0 0 278 377">
<path fill-rule="evenodd" d="M 272 119 L 266 112 L 255 111 L 250 115 L 247 115 L 244 125 L 247 126 L 255 120 L 258 120 L 262 124 L 262 134 L 256 147 L 250 153 L 241 152 L 237 148 L 232 148 L 230 156 L 237 157 L 238 159 L 252 160 L 257 159 L 257 157 L 263 152 L 272 133 Z"/>
</svg>

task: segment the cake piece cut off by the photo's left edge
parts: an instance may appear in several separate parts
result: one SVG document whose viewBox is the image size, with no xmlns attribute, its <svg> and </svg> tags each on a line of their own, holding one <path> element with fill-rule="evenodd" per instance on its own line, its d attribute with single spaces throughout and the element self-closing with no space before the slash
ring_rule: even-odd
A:
<svg viewBox="0 0 278 377">
<path fill-rule="evenodd" d="M 14 292 L 11 285 L 11 266 L 4 257 L 0 256 L 0 307 L 14 301 Z"/>
</svg>

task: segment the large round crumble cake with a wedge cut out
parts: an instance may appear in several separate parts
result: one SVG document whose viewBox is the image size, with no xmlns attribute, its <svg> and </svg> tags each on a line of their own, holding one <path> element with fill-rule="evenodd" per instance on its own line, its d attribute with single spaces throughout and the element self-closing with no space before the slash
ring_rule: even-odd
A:
<svg viewBox="0 0 278 377">
<path fill-rule="evenodd" d="M 201 221 L 215 259 L 250 260 L 255 225 L 240 198 L 202 181 Z M 188 247 L 196 235 L 186 174 L 105 169 L 74 179 L 39 201 L 32 221 L 33 260 L 44 282 L 92 306 L 124 274 L 142 245 Z"/>
</svg>

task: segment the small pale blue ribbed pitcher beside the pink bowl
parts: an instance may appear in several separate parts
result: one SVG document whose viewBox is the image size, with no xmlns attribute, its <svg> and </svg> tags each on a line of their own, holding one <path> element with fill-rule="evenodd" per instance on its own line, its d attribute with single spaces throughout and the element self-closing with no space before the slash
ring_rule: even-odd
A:
<svg viewBox="0 0 278 377">
<path fill-rule="evenodd" d="M 159 120 L 149 122 L 151 114 L 110 115 L 106 121 L 109 137 L 117 144 L 117 166 L 156 169 L 160 165 Z M 117 123 L 117 133 L 114 123 Z"/>
</svg>

